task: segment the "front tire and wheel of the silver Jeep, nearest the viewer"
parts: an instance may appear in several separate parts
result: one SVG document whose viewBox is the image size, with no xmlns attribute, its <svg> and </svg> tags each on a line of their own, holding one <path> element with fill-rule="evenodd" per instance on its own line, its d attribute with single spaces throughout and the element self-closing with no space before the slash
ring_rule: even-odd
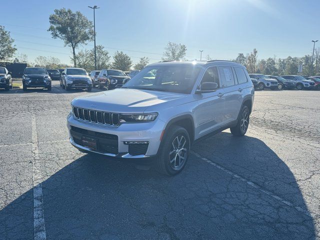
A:
<svg viewBox="0 0 320 240">
<path fill-rule="evenodd" d="M 155 168 L 165 175 L 175 175 L 182 171 L 190 152 L 190 137 L 181 126 L 172 126 L 162 139 Z"/>
</svg>

